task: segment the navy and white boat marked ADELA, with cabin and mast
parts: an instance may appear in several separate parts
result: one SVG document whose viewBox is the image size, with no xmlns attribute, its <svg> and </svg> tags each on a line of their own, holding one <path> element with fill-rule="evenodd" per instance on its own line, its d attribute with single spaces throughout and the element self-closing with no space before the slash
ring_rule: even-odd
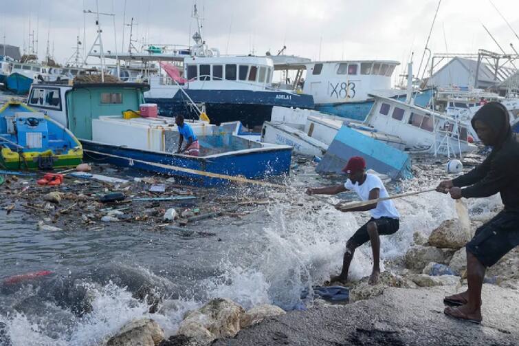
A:
<svg viewBox="0 0 519 346">
<path fill-rule="evenodd" d="M 159 115 L 182 113 L 185 118 L 198 118 L 203 108 L 214 124 L 241 121 L 251 129 L 270 120 L 274 106 L 313 108 L 310 95 L 274 87 L 274 63 L 270 56 L 221 56 L 217 48 L 208 47 L 202 38 L 196 5 L 193 18 L 198 31 L 192 36 L 195 43 L 190 47 L 153 45 L 142 53 L 104 54 L 118 64 L 158 61 L 162 65 L 167 74 L 162 70 L 158 75 L 148 74 L 150 90 L 144 94 L 146 102 L 159 106 Z M 192 107 L 193 103 L 199 109 Z"/>
</svg>

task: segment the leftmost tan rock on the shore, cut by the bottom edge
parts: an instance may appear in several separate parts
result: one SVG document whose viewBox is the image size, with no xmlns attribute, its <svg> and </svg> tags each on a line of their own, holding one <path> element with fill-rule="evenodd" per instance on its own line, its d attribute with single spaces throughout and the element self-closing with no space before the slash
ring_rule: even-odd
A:
<svg viewBox="0 0 519 346">
<path fill-rule="evenodd" d="M 163 339 L 164 331 L 157 322 L 140 318 L 126 323 L 107 341 L 107 346 L 156 346 Z"/>
</svg>

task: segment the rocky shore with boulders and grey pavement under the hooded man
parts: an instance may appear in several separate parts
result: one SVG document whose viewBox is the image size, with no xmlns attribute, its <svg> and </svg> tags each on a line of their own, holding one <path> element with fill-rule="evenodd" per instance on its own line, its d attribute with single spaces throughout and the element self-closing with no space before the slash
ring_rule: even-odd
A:
<svg viewBox="0 0 519 346">
<path fill-rule="evenodd" d="M 274 305 L 245 311 L 213 299 L 188 312 L 177 335 L 166 339 L 157 323 L 144 319 L 123 327 L 107 345 L 519 345 L 517 248 L 487 271 L 482 325 L 443 314 L 443 296 L 467 289 L 463 244 L 483 221 L 461 232 L 459 219 L 447 220 L 428 238 L 415 234 L 415 245 L 400 263 L 389 263 L 393 268 L 379 283 L 369 285 L 367 277 L 351 283 L 349 304 L 317 299 L 303 311 Z"/>
</svg>

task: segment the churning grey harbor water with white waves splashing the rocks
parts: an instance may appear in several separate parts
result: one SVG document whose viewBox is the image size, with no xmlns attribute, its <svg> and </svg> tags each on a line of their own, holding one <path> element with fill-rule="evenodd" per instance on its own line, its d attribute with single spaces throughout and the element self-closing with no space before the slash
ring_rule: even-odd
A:
<svg viewBox="0 0 519 346">
<path fill-rule="evenodd" d="M 415 171 L 413 180 L 388 184 L 390 193 L 429 188 L 447 177 L 434 160 Z M 185 312 L 216 297 L 245 309 L 263 303 L 302 309 L 302 290 L 339 272 L 346 240 L 368 219 L 367 213 L 340 213 L 304 194 L 307 186 L 336 183 L 316 175 L 311 162 L 300 164 L 287 191 L 268 191 L 271 203 L 239 219 L 199 221 L 190 226 L 198 232 L 189 236 L 132 223 L 42 231 L 35 215 L 0 210 L 0 345 L 97 345 L 142 316 L 157 321 L 168 336 Z M 254 197 L 265 191 L 243 186 L 221 193 Z M 470 213 L 489 213 L 499 203 L 498 197 L 471 201 Z M 428 235 L 456 215 L 452 199 L 440 193 L 395 204 L 401 229 L 382 237 L 382 270 L 404 255 L 413 233 Z M 355 252 L 351 278 L 365 277 L 371 266 L 371 248 L 364 245 Z M 8 280 L 42 270 L 51 273 Z"/>
</svg>

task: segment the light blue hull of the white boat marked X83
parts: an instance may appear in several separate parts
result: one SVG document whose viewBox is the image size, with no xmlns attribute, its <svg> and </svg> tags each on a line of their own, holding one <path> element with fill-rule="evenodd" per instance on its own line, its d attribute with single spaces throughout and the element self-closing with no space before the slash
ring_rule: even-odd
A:
<svg viewBox="0 0 519 346">
<path fill-rule="evenodd" d="M 415 96 L 415 105 L 420 107 L 426 107 L 431 99 L 432 90 L 428 89 Z M 406 100 L 406 96 L 395 97 L 397 100 Z M 318 104 L 316 109 L 322 111 L 322 113 L 328 113 L 333 116 L 340 116 L 342 118 L 349 118 L 352 120 L 364 121 L 368 116 L 371 107 L 373 107 L 373 101 L 365 102 L 350 102 L 350 103 L 331 103 L 331 104 Z"/>
</svg>

